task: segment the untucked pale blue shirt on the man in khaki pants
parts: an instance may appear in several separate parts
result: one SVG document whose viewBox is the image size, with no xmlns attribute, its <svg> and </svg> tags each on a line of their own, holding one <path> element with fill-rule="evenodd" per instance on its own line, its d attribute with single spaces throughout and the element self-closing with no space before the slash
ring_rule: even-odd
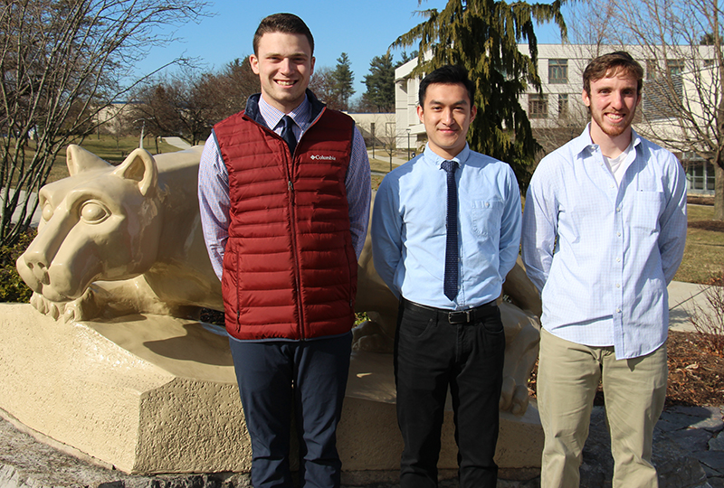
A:
<svg viewBox="0 0 724 488">
<path fill-rule="evenodd" d="M 653 352 L 669 326 L 666 286 L 686 239 L 686 181 L 672 153 L 632 135 L 617 185 L 589 127 L 546 156 L 526 196 L 522 256 L 558 337 Z"/>
</svg>

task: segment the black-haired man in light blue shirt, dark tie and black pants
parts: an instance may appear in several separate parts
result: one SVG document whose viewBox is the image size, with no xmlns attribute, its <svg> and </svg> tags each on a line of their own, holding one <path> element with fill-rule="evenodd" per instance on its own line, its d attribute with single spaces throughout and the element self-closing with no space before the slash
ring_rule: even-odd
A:
<svg viewBox="0 0 724 488">
<path fill-rule="evenodd" d="M 380 184 L 371 227 L 376 270 L 400 299 L 400 486 L 437 486 L 449 386 L 460 486 L 492 487 L 505 349 L 496 299 L 518 257 L 519 187 L 510 165 L 467 145 L 477 108 L 466 70 L 434 70 L 419 99 L 428 144 Z"/>
</svg>

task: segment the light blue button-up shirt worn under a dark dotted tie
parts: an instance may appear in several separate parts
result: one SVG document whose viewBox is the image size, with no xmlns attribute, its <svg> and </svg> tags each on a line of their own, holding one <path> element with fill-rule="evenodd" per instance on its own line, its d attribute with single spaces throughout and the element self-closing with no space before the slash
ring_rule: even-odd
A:
<svg viewBox="0 0 724 488">
<path fill-rule="evenodd" d="M 398 298 L 462 310 L 500 296 L 518 258 L 520 192 L 510 165 L 471 151 L 452 159 L 458 187 L 458 295 L 443 293 L 445 216 L 444 159 L 429 146 L 387 174 L 372 211 L 372 250 L 379 276 Z"/>
</svg>

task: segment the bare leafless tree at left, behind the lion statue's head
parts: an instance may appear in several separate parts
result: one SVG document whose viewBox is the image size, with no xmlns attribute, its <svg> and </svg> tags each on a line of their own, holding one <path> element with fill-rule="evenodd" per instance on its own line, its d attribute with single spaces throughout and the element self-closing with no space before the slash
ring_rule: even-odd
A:
<svg viewBox="0 0 724 488">
<path fill-rule="evenodd" d="M 205 7 L 202 0 L 0 2 L 0 242 L 30 224 L 31 193 L 62 147 L 89 134 L 100 110 L 128 93 L 119 80 L 134 62 L 174 39 L 162 28 L 198 21 Z"/>
</svg>

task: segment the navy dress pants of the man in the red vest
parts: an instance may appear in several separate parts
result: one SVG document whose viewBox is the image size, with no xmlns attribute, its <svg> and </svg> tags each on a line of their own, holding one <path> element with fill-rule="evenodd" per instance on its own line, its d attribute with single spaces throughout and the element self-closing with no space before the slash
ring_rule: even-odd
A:
<svg viewBox="0 0 724 488">
<path fill-rule="evenodd" d="M 230 340 L 252 439 L 254 488 L 291 488 L 292 405 L 300 445 L 300 486 L 339 486 L 337 424 L 347 388 L 352 333 L 312 341 Z"/>
</svg>

